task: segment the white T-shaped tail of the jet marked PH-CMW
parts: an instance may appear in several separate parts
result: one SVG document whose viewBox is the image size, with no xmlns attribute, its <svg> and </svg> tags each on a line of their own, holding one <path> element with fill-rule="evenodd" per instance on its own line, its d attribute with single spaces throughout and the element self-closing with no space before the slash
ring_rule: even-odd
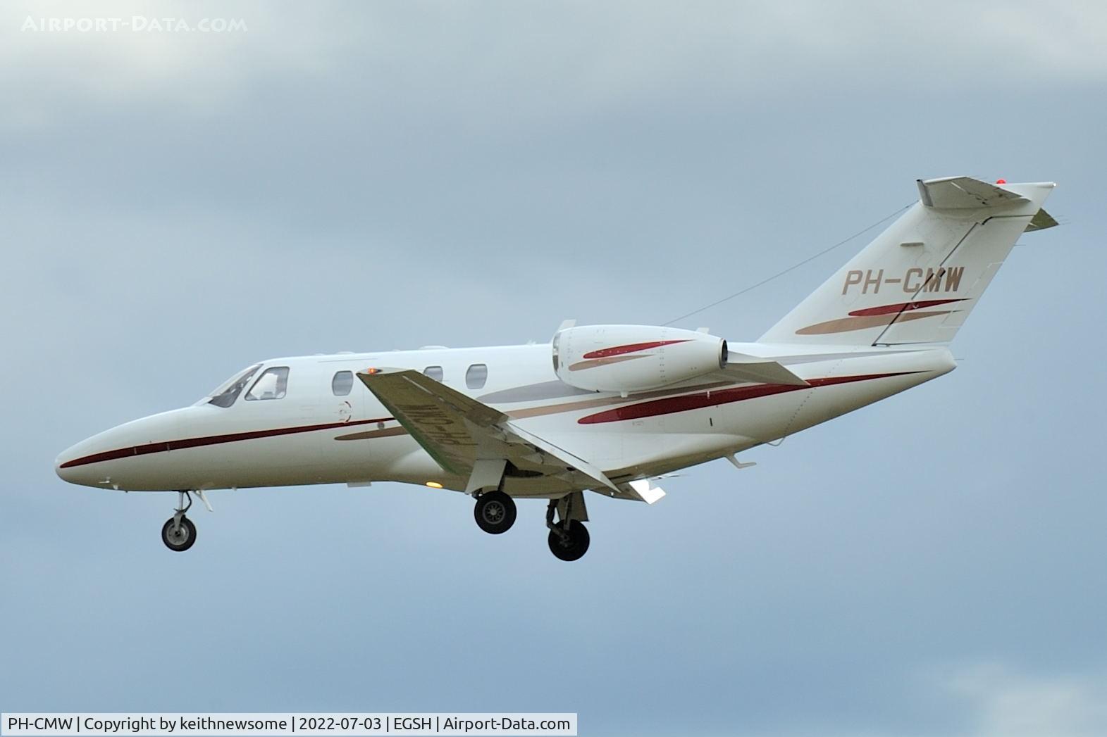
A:
<svg viewBox="0 0 1107 737">
<path fill-rule="evenodd" d="M 1042 209 L 1054 186 L 920 179 L 920 201 L 761 342 L 950 342 L 1018 236 L 1057 225 Z"/>
</svg>

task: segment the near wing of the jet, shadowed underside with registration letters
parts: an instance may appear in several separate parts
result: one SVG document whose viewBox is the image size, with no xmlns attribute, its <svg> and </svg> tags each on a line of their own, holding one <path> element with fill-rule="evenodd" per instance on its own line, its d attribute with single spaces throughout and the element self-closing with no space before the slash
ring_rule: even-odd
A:
<svg viewBox="0 0 1107 737">
<path fill-rule="evenodd" d="M 467 492 L 498 484 L 510 461 L 580 488 L 602 488 L 612 496 L 642 500 L 649 496 L 635 494 L 629 484 L 617 486 L 583 458 L 417 371 L 373 370 L 359 373 L 358 378 L 445 471 L 469 479 Z"/>
</svg>

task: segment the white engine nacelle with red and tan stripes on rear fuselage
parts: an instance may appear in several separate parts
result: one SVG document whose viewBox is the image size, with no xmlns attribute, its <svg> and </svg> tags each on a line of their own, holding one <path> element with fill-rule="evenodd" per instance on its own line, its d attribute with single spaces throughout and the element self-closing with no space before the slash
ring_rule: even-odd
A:
<svg viewBox="0 0 1107 737">
<path fill-rule="evenodd" d="M 653 325 L 582 325 L 554 335 L 554 371 L 593 392 L 644 392 L 726 366 L 726 341 Z"/>
</svg>

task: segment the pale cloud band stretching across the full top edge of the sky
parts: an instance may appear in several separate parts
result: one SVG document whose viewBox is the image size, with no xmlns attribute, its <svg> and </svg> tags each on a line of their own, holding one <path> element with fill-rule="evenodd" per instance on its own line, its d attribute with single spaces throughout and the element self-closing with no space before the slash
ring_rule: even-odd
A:
<svg viewBox="0 0 1107 737">
<path fill-rule="evenodd" d="M 93 10 L 94 8 L 94 10 Z M 581 111 L 659 87 L 773 91 L 871 84 L 972 86 L 1107 77 L 1107 6 L 1063 3 L 263 4 L 117 1 L 0 9 L 0 85 L 100 102 L 219 104 L 258 79 L 379 79 L 474 112 Z M 245 32 L 42 32 L 28 18 L 240 18 Z M 24 102 L 24 106 L 25 106 Z M 17 110 L 9 120 L 37 120 Z M 563 112 L 563 111 L 562 111 Z"/>
</svg>

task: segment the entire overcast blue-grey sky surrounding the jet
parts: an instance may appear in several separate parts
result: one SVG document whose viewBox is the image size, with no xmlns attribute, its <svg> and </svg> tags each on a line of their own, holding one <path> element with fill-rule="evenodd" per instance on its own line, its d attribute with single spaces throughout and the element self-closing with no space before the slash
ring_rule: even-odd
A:
<svg viewBox="0 0 1107 737">
<path fill-rule="evenodd" d="M 94 15 L 91 13 L 95 13 Z M 241 19 L 225 33 L 27 19 Z M 38 28 L 38 27 L 37 27 Z M 578 712 L 582 735 L 1107 733 L 1100 3 L 4 3 L 0 709 Z M 53 459 L 257 360 L 660 323 L 917 197 L 1055 180 L 935 382 L 503 537 L 380 484 Z M 689 319 L 753 340 L 865 238 Z"/>
</svg>

